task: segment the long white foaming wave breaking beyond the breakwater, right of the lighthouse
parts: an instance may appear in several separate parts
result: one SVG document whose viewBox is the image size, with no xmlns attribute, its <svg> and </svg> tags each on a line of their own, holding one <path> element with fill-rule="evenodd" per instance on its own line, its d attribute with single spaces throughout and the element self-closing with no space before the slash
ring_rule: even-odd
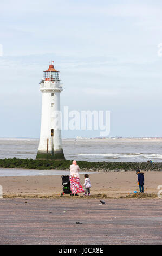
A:
<svg viewBox="0 0 162 256">
<path fill-rule="evenodd" d="M 153 154 L 153 153 L 75 153 L 74 155 L 82 155 L 82 156 L 101 156 L 106 158 L 145 158 L 145 159 L 162 159 L 162 154 Z"/>
</svg>

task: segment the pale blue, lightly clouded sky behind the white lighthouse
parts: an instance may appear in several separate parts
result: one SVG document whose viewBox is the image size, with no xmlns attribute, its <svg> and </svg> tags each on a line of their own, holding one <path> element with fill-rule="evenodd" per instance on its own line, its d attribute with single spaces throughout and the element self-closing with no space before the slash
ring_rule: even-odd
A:
<svg viewBox="0 0 162 256">
<path fill-rule="evenodd" d="M 40 136 L 50 60 L 62 110 L 111 111 L 109 136 L 162 137 L 161 31 L 161 0 L 1 1 L 0 137 Z M 76 136 L 100 132 L 62 130 Z"/>
</svg>

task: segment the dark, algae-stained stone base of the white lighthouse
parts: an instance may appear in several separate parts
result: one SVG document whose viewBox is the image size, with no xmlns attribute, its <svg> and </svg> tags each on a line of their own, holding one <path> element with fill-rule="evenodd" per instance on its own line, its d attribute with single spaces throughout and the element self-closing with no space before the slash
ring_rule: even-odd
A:
<svg viewBox="0 0 162 256">
<path fill-rule="evenodd" d="M 42 160 L 65 160 L 63 150 L 50 152 L 48 151 L 38 151 L 36 159 Z"/>
</svg>

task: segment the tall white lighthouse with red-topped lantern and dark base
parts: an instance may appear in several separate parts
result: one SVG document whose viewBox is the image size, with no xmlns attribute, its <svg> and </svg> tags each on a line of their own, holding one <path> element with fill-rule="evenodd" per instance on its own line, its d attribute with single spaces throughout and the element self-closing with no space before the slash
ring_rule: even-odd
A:
<svg viewBox="0 0 162 256">
<path fill-rule="evenodd" d="M 60 83 L 59 71 L 54 62 L 44 71 L 44 79 L 40 81 L 42 92 L 42 117 L 40 143 L 36 159 L 64 160 L 61 139 Z"/>
</svg>

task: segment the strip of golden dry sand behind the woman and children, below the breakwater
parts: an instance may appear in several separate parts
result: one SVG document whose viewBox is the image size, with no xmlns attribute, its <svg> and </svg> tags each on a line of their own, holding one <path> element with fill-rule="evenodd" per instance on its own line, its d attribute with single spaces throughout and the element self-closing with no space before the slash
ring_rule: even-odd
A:
<svg viewBox="0 0 162 256">
<path fill-rule="evenodd" d="M 106 194 L 118 198 L 139 191 L 135 172 L 99 172 L 89 173 L 92 183 L 91 194 Z M 146 193 L 157 194 L 158 185 L 162 184 L 161 172 L 145 172 Z M 84 177 L 80 175 L 83 185 Z M 61 175 L 53 176 L 15 176 L 0 177 L 0 185 L 6 196 L 52 196 L 62 192 Z M 80 194 L 82 195 L 82 194 Z"/>
</svg>

